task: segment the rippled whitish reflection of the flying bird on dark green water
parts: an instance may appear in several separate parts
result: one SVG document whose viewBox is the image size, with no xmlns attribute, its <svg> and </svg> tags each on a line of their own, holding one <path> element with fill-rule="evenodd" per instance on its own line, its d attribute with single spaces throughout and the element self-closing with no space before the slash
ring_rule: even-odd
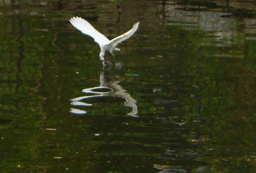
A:
<svg viewBox="0 0 256 173">
<path fill-rule="evenodd" d="M 125 106 L 131 107 L 132 111 L 129 112 L 127 115 L 137 117 L 138 107 L 136 104 L 136 100 L 131 97 L 131 95 L 122 88 L 122 86 L 118 85 L 118 81 L 115 80 L 115 77 L 108 76 L 108 71 L 105 69 L 104 72 L 100 74 L 100 86 L 92 87 L 92 88 L 85 88 L 82 92 L 91 93 L 93 95 L 89 96 L 81 96 L 77 98 L 71 99 L 71 105 L 74 106 L 93 106 L 93 104 L 87 104 L 82 102 L 82 100 L 86 100 L 87 98 L 94 98 L 94 97 L 119 97 L 125 99 Z M 71 108 L 71 111 L 74 114 L 86 114 L 86 111 Z"/>
</svg>

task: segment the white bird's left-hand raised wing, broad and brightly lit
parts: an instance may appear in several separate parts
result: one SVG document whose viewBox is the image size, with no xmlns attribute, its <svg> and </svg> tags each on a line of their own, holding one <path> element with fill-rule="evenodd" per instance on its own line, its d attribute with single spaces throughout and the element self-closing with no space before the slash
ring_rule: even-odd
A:
<svg viewBox="0 0 256 173">
<path fill-rule="evenodd" d="M 80 17 L 72 17 L 70 23 L 82 33 L 94 38 L 99 45 L 108 44 L 110 41 L 103 34 L 98 32 L 88 21 Z"/>
</svg>

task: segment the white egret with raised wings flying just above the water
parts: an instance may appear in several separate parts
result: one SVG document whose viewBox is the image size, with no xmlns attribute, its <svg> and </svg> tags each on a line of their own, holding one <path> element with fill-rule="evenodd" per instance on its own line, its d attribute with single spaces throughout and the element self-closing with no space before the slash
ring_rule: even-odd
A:
<svg viewBox="0 0 256 173">
<path fill-rule="evenodd" d="M 132 29 L 127 31 L 126 33 L 119 35 L 116 38 L 113 38 L 112 40 L 109 40 L 106 38 L 103 34 L 98 32 L 88 21 L 85 19 L 82 19 L 80 17 L 72 17 L 70 20 L 70 23 L 78 30 L 80 30 L 83 34 L 91 36 L 96 43 L 100 45 L 100 60 L 105 62 L 105 52 L 110 52 L 113 56 L 113 51 L 120 51 L 119 48 L 116 46 L 123 42 L 124 40 L 130 38 L 138 29 L 139 27 L 139 21 L 133 24 Z"/>
</svg>

